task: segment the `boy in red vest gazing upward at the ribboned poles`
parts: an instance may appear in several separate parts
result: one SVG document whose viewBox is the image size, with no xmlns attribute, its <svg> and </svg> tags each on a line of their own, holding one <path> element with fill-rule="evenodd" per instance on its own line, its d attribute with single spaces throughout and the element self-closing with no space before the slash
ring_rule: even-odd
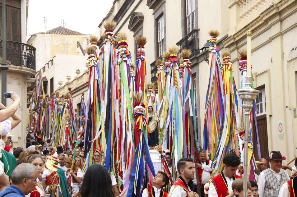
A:
<svg viewBox="0 0 297 197">
<path fill-rule="evenodd" d="M 142 192 L 142 197 L 167 197 L 168 193 L 165 192 L 162 188 L 167 186 L 168 183 L 169 177 L 165 174 L 165 172 L 158 171 L 153 180 L 154 186 L 150 185 L 149 188 L 144 189 Z"/>
</svg>

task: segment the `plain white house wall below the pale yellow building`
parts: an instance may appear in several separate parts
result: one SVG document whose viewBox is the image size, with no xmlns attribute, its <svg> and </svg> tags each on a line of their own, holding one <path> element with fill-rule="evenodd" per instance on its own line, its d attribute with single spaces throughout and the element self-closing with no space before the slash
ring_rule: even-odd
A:
<svg viewBox="0 0 297 197">
<path fill-rule="evenodd" d="M 58 81 L 63 81 L 65 84 L 68 80 L 66 77 L 69 75 L 73 80 L 77 74 L 75 71 L 80 69 L 81 73 L 86 70 L 86 56 L 80 55 L 65 55 L 65 54 L 56 54 L 54 57 L 53 66 L 49 66 L 49 69 L 46 67 L 43 77 L 46 76 L 48 79 L 48 93 L 50 91 L 49 81 L 53 78 L 53 89 L 59 87 Z"/>
</svg>

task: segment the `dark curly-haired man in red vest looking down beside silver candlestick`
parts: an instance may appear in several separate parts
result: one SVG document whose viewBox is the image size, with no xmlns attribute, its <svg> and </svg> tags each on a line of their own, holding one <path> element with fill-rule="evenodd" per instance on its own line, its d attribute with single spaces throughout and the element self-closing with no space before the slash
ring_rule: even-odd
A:
<svg viewBox="0 0 297 197">
<path fill-rule="evenodd" d="M 240 164 L 239 157 L 235 153 L 228 153 L 223 160 L 223 171 L 210 180 L 208 196 L 233 197 L 232 183 L 237 178 L 236 170 Z"/>
</svg>

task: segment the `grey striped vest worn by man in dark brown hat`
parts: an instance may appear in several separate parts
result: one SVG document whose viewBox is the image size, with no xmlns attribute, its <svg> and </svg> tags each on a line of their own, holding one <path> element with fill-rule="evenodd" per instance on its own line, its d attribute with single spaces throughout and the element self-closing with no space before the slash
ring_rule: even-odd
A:
<svg viewBox="0 0 297 197">
<path fill-rule="evenodd" d="M 271 172 L 270 168 L 262 171 L 261 173 L 264 173 L 266 180 L 263 197 L 278 196 L 282 184 L 290 179 L 289 175 L 282 169 L 280 181 L 277 180 L 275 175 Z"/>
</svg>

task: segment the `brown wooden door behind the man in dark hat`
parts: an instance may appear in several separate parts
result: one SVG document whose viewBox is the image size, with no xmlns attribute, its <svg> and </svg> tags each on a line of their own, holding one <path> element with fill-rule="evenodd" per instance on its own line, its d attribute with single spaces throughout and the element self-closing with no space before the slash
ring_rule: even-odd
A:
<svg viewBox="0 0 297 197">
<path fill-rule="evenodd" d="M 257 117 L 261 158 L 269 157 L 266 115 Z"/>
</svg>

